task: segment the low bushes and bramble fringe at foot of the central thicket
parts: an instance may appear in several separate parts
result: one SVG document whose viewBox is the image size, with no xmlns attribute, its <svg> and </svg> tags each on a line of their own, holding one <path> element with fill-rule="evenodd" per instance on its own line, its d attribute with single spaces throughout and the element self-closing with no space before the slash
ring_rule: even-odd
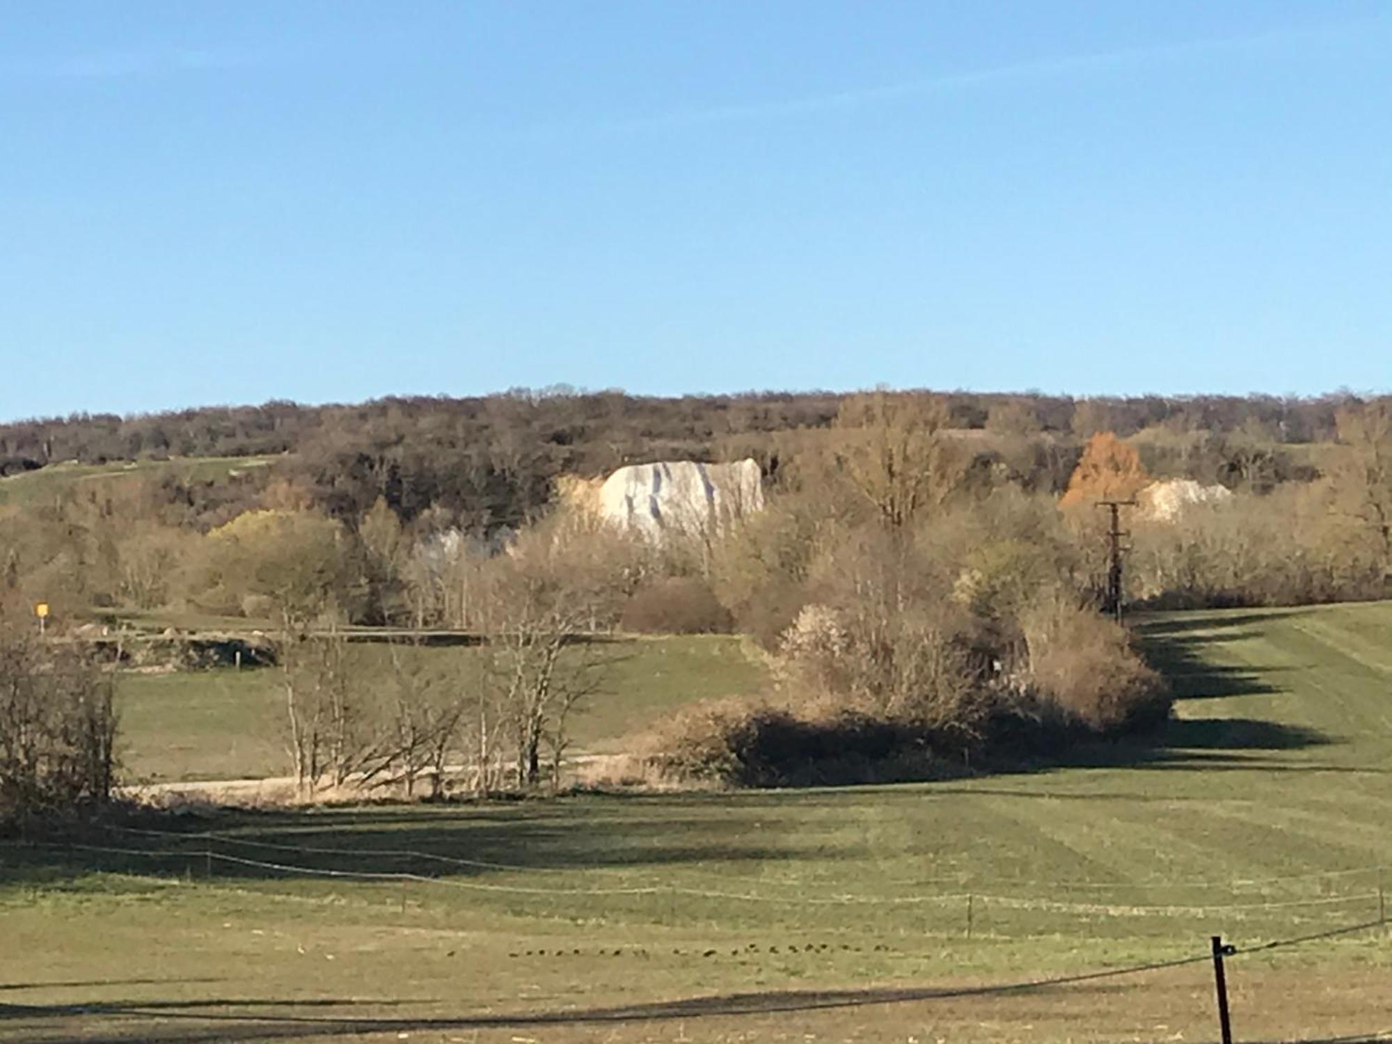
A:
<svg viewBox="0 0 1392 1044">
<path fill-rule="evenodd" d="M 905 603 L 901 612 L 920 610 Z M 778 702 L 689 707 L 639 742 L 643 764 L 727 786 L 931 780 L 1054 759 L 1169 717 L 1169 696 L 1129 632 L 1062 596 L 1022 614 L 1023 663 L 986 671 L 954 651 L 960 635 L 901 632 L 888 614 L 874 622 L 864 629 L 845 610 L 807 606 L 784 635 Z"/>
</svg>

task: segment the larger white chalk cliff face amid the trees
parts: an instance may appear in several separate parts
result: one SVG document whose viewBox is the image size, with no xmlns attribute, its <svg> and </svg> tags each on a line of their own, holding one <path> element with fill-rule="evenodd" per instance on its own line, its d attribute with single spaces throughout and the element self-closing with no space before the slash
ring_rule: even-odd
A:
<svg viewBox="0 0 1392 1044">
<path fill-rule="evenodd" d="M 633 464 L 604 480 L 597 507 L 606 521 L 653 539 L 707 533 L 763 509 L 763 476 L 752 458 L 734 464 Z"/>
</svg>

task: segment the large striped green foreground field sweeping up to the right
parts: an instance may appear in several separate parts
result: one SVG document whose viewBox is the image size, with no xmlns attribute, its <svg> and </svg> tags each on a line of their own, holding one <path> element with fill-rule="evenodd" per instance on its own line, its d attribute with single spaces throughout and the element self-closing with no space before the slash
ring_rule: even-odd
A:
<svg viewBox="0 0 1392 1044">
<path fill-rule="evenodd" d="M 1392 604 L 1148 621 L 1168 742 L 1050 771 L 10 845 L 0 1038 L 1215 1040 L 1211 934 L 1378 916 L 1389 635 Z M 1229 979 L 1239 1040 L 1392 1030 L 1385 926 Z"/>
</svg>

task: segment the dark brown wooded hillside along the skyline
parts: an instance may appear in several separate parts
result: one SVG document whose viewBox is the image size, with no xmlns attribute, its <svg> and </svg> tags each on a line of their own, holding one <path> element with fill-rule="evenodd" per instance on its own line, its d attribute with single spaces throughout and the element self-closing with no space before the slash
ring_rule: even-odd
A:
<svg viewBox="0 0 1392 1044">
<path fill-rule="evenodd" d="M 376 500 L 404 522 L 434 508 L 470 532 L 516 526 L 543 507 L 561 473 L 600 475 L 635 461 L 754 457 L 766 476 L 796 443 L 830 429 L 845 395 L 749 393 L 650 398 L 621 391 L 514 390 L 477 398 L 383 398 L 358 405 L 205 406 L 138 416 L 72 415 L 0 425 L 0 475 L 57 462 L 285 455 L 244 484 L 285 479 L 338 518 Z M 1061 491 L 1082 443 L 1097 432 L 1136 436 L 1155 475 L 1270 489 L 1308 479 L 1303 448 L 1335 434 L 1354 401 L 1192 397 L 1086 398 L 949 393 L 951 426 L 1036 489 Z M 203 525 L 230 514 L 226 490 L 174 483 L 173 503 Z M 209 507 L 205 501 L 212 500 Z M 234 496 L 232 500 L 239 500 Z"/>
</svg>

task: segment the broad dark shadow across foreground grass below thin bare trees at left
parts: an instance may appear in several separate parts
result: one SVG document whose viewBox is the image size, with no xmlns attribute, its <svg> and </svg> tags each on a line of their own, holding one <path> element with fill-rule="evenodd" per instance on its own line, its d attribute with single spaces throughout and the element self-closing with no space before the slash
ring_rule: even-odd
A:
<svg viewBox="0 0 1392 1044">
<path fill-rule="evenodd" d="M 748 818 L 710 802 L 668 799 L 551 803 L 507 809 L 386 809 L 139 814 L 50 830 L 28 844 L 0 844 L 0 885 L 92 888 L 92 873 L 213 877 L 226 881 L 308 877 L 340 883 L 444 877 L 480 898 L 582 891 L 621 894 L 664 867 L 835 857 L 780 838 L 768 845 Z M 576 885 L 569 876 L 597 871 Z M 625 873 L 631 871 L 631 873 Z M 503 877 L 497 885 L 490 878 Z"/>
</svg>

